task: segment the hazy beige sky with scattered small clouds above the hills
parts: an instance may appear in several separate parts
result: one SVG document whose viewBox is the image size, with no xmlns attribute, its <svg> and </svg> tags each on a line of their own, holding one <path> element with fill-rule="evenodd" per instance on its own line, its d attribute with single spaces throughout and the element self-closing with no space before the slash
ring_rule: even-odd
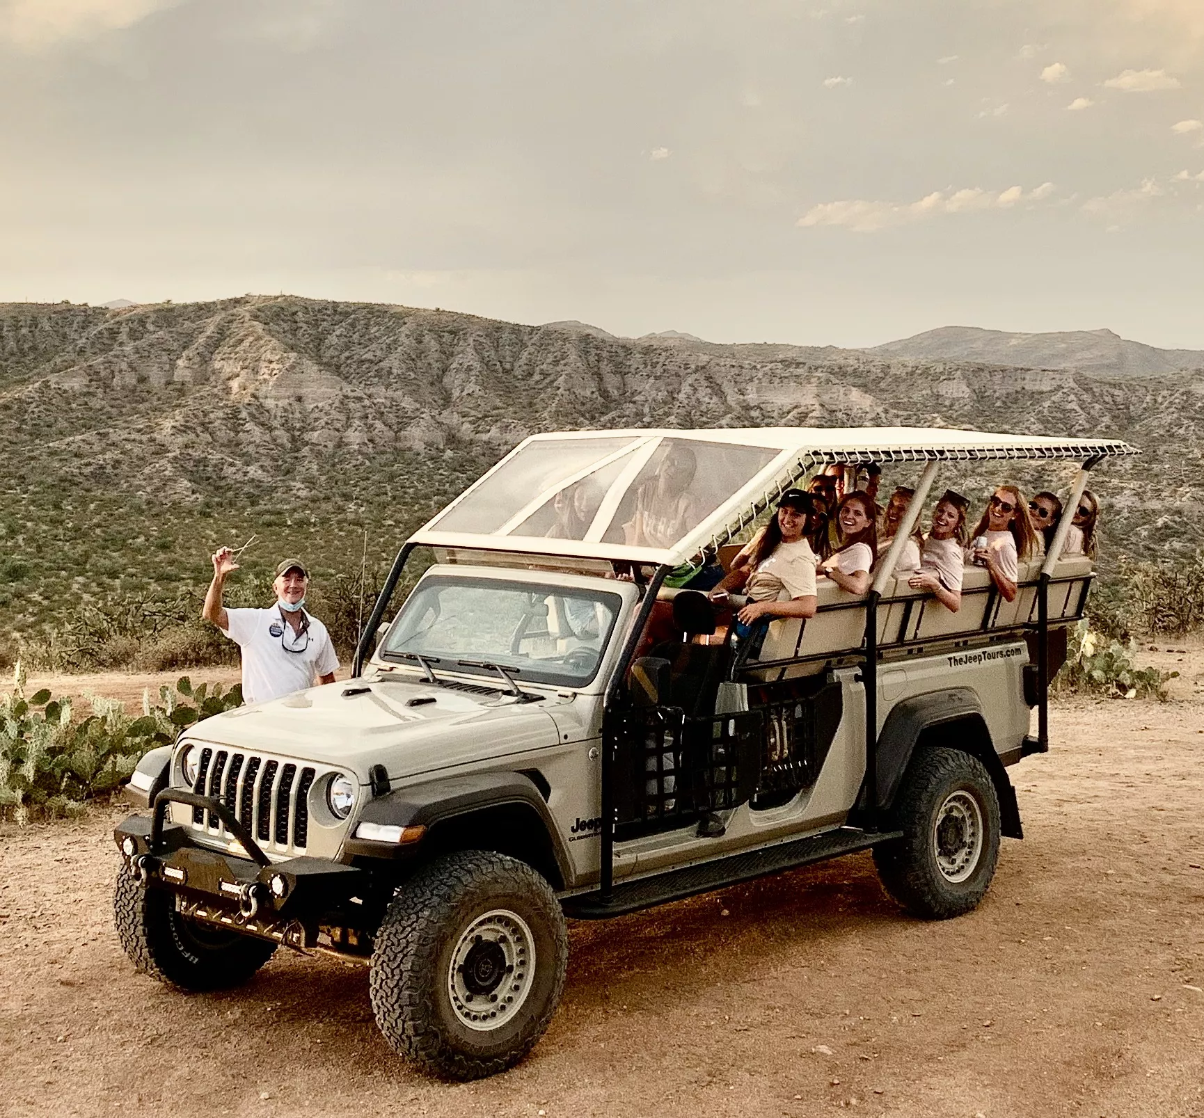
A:
<svg viewBox="0 0 1204 1118">
<path fill-rule="evenodd" d="M 0 0 L 0 300 L 1204 349 L 1204 0 Z"/>
</svg>

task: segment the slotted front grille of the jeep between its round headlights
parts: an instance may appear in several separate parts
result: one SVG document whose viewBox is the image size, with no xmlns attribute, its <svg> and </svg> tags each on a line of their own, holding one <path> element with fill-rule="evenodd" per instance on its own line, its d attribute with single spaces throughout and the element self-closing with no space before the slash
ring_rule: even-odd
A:
<svg viewBox="0 0 1204 1118">
<path fill-rule="evenodd" d="M 225 804 L 265 851 L 296 853 L 309 838 L 309 789 L 327 771 L 206 745 L 193 791 Z M 232 838 L 211 811 L 194 808 L 191 815 L 194 830 Z"/>
</svg>

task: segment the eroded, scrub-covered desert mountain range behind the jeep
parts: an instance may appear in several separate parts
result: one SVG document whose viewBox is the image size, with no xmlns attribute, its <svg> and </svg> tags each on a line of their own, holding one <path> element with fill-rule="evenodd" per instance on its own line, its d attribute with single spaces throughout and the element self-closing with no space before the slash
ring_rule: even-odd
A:
<svg viewBox="0 0 1204 1118">
<path fill-rule="evenodd" d="M 1079 341 L 1057 353 L 1050 338 Z M 975 356 L 956 351 L 970 343 Z M 288 549 L 358 570 L 364 528 L 383 558 L 526 434 L 562 428 L 1112 436 L 1146 456 L 1100 471 L 1105 555 L 1190 551 L 1204 543 L 1204 355 L 1171 354 L 1110 333 L 969 330 L 873 350 L 720 345 L 293 296 L 0 304 L 0 632 L 116 588 L 191 593 L 236 534 L 258 534 L 248 556 L 264 562 Z"/>
</svg>

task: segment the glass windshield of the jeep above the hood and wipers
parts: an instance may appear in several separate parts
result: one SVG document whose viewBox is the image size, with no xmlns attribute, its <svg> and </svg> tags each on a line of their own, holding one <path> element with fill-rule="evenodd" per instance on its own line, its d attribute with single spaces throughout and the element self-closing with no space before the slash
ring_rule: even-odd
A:
<svg viewBox="0 0 1204 1118">
<path fill-rule="evenodd" d="M 394 663 L 582 687 L 597 674 L 619 595 L 538 582 L 432 575 L 406 599 L 380 649 Z"/>
</svg>

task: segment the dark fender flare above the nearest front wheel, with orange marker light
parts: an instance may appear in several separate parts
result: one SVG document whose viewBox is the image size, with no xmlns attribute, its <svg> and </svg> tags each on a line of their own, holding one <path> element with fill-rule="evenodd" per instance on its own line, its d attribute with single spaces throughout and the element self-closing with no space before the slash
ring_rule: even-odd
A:
<svg viewBox="0 0 1204 1118">
<path fill-rule="evenodd" d="M 356 826 L 425 827 L 429 838 L 431 832 L 454 820 L 467 822 L 468 816 L 507 808 L 515 811 L 524 824 L 537 828 L 537 833 L 547 838 L 560 883 L 571 882 L 572 862 L 560 830 L 539 788 L 525 773 L 471 773 L 397 788 L 368 800 Z M 426 841 L 424 838 L 423 842 Z M 340 860 L 348 862 L 355 857 L 403 858 L 413 851 L 412 846 L 348 836 L 343 840 Z M 556 887 L 557 882 L 553 886 Z"/>
</svg>

